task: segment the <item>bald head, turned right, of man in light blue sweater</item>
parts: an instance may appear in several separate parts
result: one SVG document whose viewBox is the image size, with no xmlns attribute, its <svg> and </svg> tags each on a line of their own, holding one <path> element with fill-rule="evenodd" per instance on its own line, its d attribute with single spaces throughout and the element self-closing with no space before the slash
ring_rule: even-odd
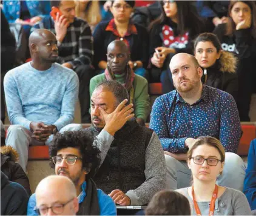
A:
<svg viewBox="0 0 256 216">
<path fill-rule="evenodd" d="M 39 61 L 39 64 L 55 62 L 58 58 L 57 42 L 55 34 L 47 29 L 33 31 L 29 37 L 32 61 Z"/>
</svg>

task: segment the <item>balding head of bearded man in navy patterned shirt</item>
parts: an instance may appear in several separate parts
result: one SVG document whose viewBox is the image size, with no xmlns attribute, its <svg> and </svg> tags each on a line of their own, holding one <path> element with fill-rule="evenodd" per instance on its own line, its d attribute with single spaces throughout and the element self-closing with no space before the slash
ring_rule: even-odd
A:
<svg viewBox="0 0 256 216">
<path fill-rule="evenodd" d="M 187 53 L 178 53 L 170 61 L 173 85 L 179 93 L 199 89 L 203 71 L 197 59 Z"/>
</svg>

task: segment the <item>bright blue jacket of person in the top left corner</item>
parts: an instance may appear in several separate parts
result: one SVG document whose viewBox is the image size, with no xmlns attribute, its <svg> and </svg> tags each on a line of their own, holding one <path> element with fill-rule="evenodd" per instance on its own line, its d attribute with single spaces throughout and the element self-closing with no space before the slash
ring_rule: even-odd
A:
<svg viewBox="0 0 256 216">
<path fill-rule="evenodd" d="M 29 13 L 31 17 L 34 16 L 41 16 L 42 18 L 44 16 L 49 16 L 51 11 L 51 5 L 50 1 L 32 1 L 32 0 L 26 0 L 27 2 L 27 8 L 29 8 Z M 7 1 L 4 0 L 2 2 L 4 11 L 4 15 L 8 22 L 12 23 L 15 22 L 16 19 L 20 17 L 20 11 L 21 11 L 21 1 Z"/>
</svg>

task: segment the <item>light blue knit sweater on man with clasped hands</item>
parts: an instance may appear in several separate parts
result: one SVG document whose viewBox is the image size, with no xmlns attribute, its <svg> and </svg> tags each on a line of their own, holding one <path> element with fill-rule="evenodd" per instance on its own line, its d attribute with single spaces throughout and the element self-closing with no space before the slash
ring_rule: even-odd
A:
<svg viewBox="0 0 256 216">
<path fill-rule="evenodd" d="M 59 64 L 45 71 L 36 70 L 30 62 L 16 67 L 4 77 L 10 122 L 27 129 L 32 121 L 44 122 L 59 131 L 73 121 L 78 88 L 76 73 Z"/>
</svg>

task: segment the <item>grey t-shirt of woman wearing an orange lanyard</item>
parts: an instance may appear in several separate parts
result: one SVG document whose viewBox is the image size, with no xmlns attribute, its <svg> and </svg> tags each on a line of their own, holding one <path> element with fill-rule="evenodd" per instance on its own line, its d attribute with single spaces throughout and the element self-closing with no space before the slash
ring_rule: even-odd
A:
<svg viewBox="0 0 256 216">
<path fill-rule="evenodd" d="M 190 208 L 192 209 L 192 215 L 197 215 L 195 213 L 193 200 L 189 196 L 187 189 L 188 188 L 181 188 L 175 191 L 187 197 Z M 200 201 L 197 203 L 201 214 L 209 215 L 210 202 Z M 242 192 L 232 188 L 226 188 L 226 191 L 215 201 L 214 215 L 252 215 L 252 211 L 246 196 Z"/>
</svg>

